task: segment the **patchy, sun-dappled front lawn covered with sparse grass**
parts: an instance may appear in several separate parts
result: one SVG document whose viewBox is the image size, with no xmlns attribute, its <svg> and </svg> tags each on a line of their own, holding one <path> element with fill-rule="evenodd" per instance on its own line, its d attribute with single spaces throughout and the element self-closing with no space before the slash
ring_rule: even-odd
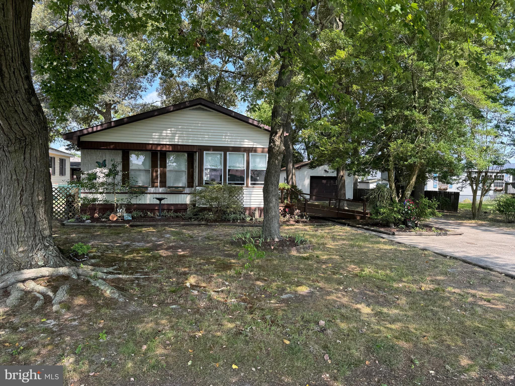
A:
<svg viewBox="0 0 515 386">
<path fill-rule="evenodd" d="M 515 373 L 513 280 L 457 260 L 287 225 L 314 249 L 267 252 L 242 274 L 233 226 L 54 229 L 64 249 L 92 244 L 102 266 L 160 275 L 109 280 L 124 303 L 70 279 L 60 315 L 49 302 L 32 311 L 32 295 L 6 310 L 1 294 L 0 363 L 64 364 L 65 385 L 480 385 Z"/>
</svg>

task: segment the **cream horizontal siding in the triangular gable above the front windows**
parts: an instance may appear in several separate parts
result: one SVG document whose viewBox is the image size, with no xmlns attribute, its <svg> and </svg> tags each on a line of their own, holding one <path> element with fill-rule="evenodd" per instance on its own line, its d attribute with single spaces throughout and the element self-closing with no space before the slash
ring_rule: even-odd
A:
<svg viewBox="0 0 515 386">
<path fill-rule="evenodd" d="M 205 108 L 175 111 L 82 136 L 81 141 L 268 147 L 268 131 Z"/>
</svg>

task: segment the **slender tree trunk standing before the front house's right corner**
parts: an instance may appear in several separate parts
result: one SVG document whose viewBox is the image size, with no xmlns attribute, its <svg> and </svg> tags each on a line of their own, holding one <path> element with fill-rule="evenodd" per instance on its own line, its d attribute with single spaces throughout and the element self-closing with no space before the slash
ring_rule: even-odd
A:
<svg viewBox="0 0 515 386">
<path fill-rule="evenodd" d="M 291 83 L 293 71 L 290 59 L 284 58 L 279 68 L 279 74 L 274 82 L 276 98 L 272 107 L 272 123 L 268 142 L 268 163 L 266 165 L 265 183 L 263 186 L 263 227 L 261 236 L 265 239 L 280 240 L 279 231 L 279 174 L 284 154 L 284 129 L 289 120 L 288 86 Z"/>
</svg>

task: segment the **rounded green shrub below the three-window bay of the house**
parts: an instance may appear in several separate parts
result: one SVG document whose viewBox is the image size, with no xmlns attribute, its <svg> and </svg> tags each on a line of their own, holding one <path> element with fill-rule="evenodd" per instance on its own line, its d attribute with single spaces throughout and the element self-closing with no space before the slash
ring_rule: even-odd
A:
<svg viewBox="0 0 515 386">
<path fill-rule="evenodd" d="M 193 192 L 192 205 L 185 218 L 200 221 L 241 221 L 246 219 L 243 208 L 243 187 L 231 184 L 209 184 Z"/>
</svg>

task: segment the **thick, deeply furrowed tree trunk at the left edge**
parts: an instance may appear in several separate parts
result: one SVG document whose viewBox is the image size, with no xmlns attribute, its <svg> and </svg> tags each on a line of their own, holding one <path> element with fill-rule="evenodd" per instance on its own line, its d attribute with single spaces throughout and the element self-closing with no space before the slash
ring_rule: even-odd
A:
<svg viewBox="0 0 515 386">
<path fill-rule="evenodd" d="M 0 275 L 66 263 L 52 238 L 48 128 L 30 77 L 31 0 L 0 0 Z"/>
</svg>

